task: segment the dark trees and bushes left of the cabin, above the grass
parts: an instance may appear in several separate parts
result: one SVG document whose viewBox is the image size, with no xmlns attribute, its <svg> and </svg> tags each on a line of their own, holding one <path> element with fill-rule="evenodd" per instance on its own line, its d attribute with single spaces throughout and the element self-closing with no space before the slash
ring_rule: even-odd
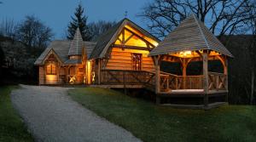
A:
<svg viewBox="0 0 256 142">
<path fill-rule="evenodd" d="M 44 51 L 53 37 L 49 26 L 34 15 L 24 20 L 3 20 L 0 23 L 1 82 L 35 83 L 37 69 L 34 61 Z"/>
</svg>

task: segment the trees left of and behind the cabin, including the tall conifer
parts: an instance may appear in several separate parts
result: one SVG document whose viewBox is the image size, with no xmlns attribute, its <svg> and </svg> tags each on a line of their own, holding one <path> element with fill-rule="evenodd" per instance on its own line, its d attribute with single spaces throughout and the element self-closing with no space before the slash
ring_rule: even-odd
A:
<svg viewBox="0 0 256 142">
<path fill-rule="evenodd" d="M 114 21 L 105 20 L 87 23 L 85 10 L 79 3 L 68 23 L 64 40 L 72 40 L 79 27 L 84 40 L 95 41 L 114 24 Z M 27 15 L 21 21 L 0 21 L 0 85 L 37 84 L 38 68 L 34 62 L 54 38 L 51 28 L 35 15 Z"/>
</svg>

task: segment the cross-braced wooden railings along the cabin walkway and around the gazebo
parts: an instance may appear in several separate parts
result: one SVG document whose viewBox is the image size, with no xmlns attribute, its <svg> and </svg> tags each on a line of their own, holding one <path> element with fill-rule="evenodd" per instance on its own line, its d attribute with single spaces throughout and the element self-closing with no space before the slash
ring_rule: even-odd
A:
<svg viewBox="0 0 256 142">
<path fill-rule="evenodd" d="M 152 71 L 102 70 L 101 84 L 107 85 L 143 85 L 155 88 L 155 73 Z M 160 91 L 177 89 L 203 89 L 203 76 L 177 76 L 160 72 Z M 226 90 L 226 75 L 208 72 L 209 90 Z"/>
</svg>

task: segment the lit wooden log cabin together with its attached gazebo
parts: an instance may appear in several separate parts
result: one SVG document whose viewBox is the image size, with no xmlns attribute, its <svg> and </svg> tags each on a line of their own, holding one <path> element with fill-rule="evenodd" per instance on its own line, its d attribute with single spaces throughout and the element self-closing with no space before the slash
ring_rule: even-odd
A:
<svg viewBox="0 0 256 142">
<path fill-rule="evenodd" d="M 165 99 L 202 99 L 208 109 L 227 102 L 228 58 L 232 54 L 194 14 L 177 26 L 162 42 L 131 20 L 119 21 L 96 41 L 84 42 L 77 30 L 73 41 L 54 41 L 35 62 L 39 84 L 86 84 L 103 88 L 142 88 Z M 208 71 L 208 61 L 219 60 L 223 71 Z M 162 62 L 179 63 L 182 74 L 160 71 Z M 189 75 L 191 62 L 202 71 Z M 219 102 L 211 98 L 224 97 Z"/>
</svg>

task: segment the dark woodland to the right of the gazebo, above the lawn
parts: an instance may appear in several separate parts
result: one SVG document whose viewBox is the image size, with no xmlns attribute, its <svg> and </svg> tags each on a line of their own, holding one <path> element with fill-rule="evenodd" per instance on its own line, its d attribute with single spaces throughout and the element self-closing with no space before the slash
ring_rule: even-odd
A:
<svg viewBox="0 0 256 142">
<path fill-rule="evenodd" d="M 235 56 L 229 60 L 230 103 L 255 105 L 255 97 L 252 98 L 252 91 L 253 95 L 256 93 L 256 82 L 253 77 L 256 65 L 255 35 L 222 37 L 221 41 L 227 43 L 226 47 Z M 251 46 L 253 50 L 250 49 Z"/>
</svg>

